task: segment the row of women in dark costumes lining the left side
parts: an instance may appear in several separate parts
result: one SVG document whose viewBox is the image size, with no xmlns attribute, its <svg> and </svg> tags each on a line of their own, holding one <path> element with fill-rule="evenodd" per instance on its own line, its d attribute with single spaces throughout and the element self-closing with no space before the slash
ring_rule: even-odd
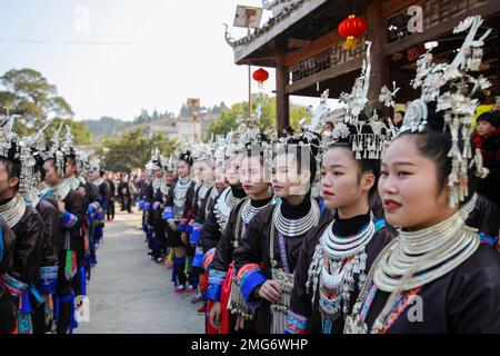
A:
<svg viewBox="0 0 500 356">
<path fill-rule="evenodd" d="M 98 264 L 109 186 L 62 123 L 46 146 L 0 128 L 0 334 L 72 333 Z"/>
</svg>

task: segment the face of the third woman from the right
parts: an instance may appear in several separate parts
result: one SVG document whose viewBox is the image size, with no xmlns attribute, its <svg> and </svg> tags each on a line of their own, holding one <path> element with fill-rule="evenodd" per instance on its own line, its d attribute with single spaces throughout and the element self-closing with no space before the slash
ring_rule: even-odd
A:
<svg viewBox="0 0 500 356">
<path fill-rule="evenodd" d="M 310 171 L 298 172 L 293 154 L 278 155 L 272 164 L 272 189 L 278 197 L 306 195 L 309 191 Z"/>
</svg>

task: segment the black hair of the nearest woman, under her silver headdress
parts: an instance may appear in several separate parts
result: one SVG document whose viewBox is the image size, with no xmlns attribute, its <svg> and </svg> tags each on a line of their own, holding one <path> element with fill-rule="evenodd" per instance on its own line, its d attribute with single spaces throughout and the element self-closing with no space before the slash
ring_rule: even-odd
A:
<svg viewBox="0 0 500 356">
<path fill-rule="evenodd" d="M 447 188 L 448 177 L 451 174 L 452 165 L 451 158 L 448 157 L 452 146 L 451 134 L 449 130 L 444 130 L 444 116 L 443 112 L 436 111 L 436 103 L 429 103 L 429 118 L 428 125 L 421 132 L 411 132 L 410 130 L 401 132 L 397 139 L 402 137 L 410 136 L 414 138 L 417 144 L 418 152 L 431 159 L 436 164 L 437 169 L 437 182 L 438 182 L 438 191 L 439 195 L 442 189 Z M 461 134 L 460 134 L 461 135 Z M 470 137 L 467 137 L 470 140 Z M 476 145 L 470 140 L 472 152 L 476 151 Z M 463 141 L 460 137 L 459 139 L 459 149 L 463 151 Z M 478 189 L 478 177 L 476 172 L 471 169 L 468 170 L 468 189 L 469 195 L 466 197 L 463 201 L 460 202 L 460 207 L 469 202 L 472 198 L 473 194 Z"/>
</svg>

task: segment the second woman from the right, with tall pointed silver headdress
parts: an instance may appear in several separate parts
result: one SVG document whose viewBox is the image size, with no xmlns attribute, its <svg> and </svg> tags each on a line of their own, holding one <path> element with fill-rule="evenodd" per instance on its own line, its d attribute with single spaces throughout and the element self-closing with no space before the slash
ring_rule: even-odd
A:
<svg viewBox="0 0 500 356">
<path fill-rule="evenodd" d="M 368 93 L 369 73 L 366 61 L 351 98 Z M 323 219 L 302 245 L 288 334 L 342 334 L 343 320 L 371 264 L 396 235 L 370 208 L 370 201 L 377 198 L 380 157 L 389 130 L 377 118 L 356 115 L 364 108 L 363 102 L 347 100 L 344 122 L 338 122 L 323 138 L 322 197 L 332 216 Z"/>
</svg>

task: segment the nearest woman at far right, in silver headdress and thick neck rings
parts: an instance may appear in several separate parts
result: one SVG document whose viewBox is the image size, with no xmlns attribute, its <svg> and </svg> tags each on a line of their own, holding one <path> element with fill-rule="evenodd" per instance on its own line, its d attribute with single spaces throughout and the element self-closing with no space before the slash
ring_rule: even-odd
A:
<svg viewBox="0 0 500 356">
<path fill-rule="evenodd" d="M 500 333 L 500 259 L 466 225 L 477 178 L 488 174 L 470 140 L 471 96 L 488 81 L 467 72 L 481 63 L 481 23 L 470 17 L 456 28 L 470 32 L 450 65 L 432 63 L 430 52 L 418 61 L 421 98 L 387 149 L 379 182 L 399 237 L 373 263 L 346 333 Z"/>
</svg>

